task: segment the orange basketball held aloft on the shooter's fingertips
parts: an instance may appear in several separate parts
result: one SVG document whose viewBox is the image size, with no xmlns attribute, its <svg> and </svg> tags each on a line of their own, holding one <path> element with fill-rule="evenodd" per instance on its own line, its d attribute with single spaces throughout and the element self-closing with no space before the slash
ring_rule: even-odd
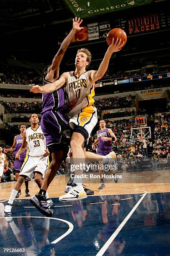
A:
<svg viewBox="0 0 170 256">
<path fill-rule="evenodd" d="M 113 29 L 111 29 L 111 30 L 108 32 L 107 38 L 106 38 L 108 45 L 110 45 L 110 44 L 112 43 L 112 38 L 113 38 L 113 37 L 114 37 L 114 43 L 115 43 L 115 41 L 116 41 L 116 39 L 117 39 L 117 37 L 118 37 L 118 38 L 121 38 L 121 43 L 122 43 L 123 41 L 125 41 L 125 42 L 124 42 L 124 45 L 126 44 L 127 36 L 126 36 L 125 31 L 123 31 L 121 28 L 113 28 Z M 124 45 L 123 45 L 123 46 L 124 46 Z"/>
</svg>

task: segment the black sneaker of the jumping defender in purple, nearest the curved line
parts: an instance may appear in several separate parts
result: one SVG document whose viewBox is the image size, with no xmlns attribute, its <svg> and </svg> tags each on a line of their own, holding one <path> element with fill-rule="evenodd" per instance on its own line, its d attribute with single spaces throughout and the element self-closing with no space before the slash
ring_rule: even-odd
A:
<svg viewBox="0 0 170 256">
<path fill-rule="evenodd" d="M 53 210 L 49 209 L 49 205 L 45 199 L 45 196 L 40 194 L 34 195 L 30 198 L 30 202 L 34 205 L 46 217 L 52 217 Z"/>
</svg>

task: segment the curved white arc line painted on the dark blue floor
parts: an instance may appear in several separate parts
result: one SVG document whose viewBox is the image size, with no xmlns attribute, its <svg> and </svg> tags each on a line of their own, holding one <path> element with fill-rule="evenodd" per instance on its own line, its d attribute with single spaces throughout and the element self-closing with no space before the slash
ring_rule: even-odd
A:
<svg viewBox="0 0 170 256">
<path fill-rule="evenodd" d="M 58 243 L 60 240 L 62 240 L 62 238 L 64 238 L 65 236 L 67 236 L 68 234 L 70 234 L 74 228 L 74 226 L 72 225 L 72 223 L 70 221 L 67 220 L 63 220 L 63 219 L 58 219 L 58 218 L 48 218 L 48 217 L 39 217 L 39 216 L 15 216 L 15 217 L 0 217 L 0 219 L 6 219 L 6 218 L 42 218 L 42 219 L 52 219 L 52 220 L 60 220 L 62 222 L 67 223 L 67 225 L 69 226 L 68 230 L 60 237 L 58 237 L 57 239 L 55 239 L 54 241 L 52 241 L 51 243 Z"/>
</svg>

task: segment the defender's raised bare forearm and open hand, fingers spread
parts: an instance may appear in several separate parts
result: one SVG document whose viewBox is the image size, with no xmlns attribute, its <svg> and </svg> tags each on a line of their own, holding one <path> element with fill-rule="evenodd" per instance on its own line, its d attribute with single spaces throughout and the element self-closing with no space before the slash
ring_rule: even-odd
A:
<svg viewBox="0 0 170 256">
<path fill-rule="evenodd" d="M 65 54 L 65 51 L 67 47 L 69 46 L 71 39 L 75 35 L 76 32 L 82 30 L 83 27 L 80 27 L 82 20 L 80 18 L 75 17 L 75 19 L 72 19 L 72 30 L 70 33 L 67 35 L 67 37 L 64 39 L 62 42 L 60 49 L 58 50 L 57 54 L 55 55 L 52 65 L 50 66 L 50 69 L 58 69 L 60 66 L 60 62 L 62 61 L 62 58 Z"/>
</svg>

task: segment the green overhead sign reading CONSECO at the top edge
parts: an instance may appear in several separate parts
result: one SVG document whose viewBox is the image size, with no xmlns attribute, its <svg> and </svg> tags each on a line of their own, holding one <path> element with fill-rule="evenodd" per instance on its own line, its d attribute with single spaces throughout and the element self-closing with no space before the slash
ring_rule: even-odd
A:
<svg viewBox="0 0 170 256">
<path fill-rule="evenodd" d="M 65 0 L 74 16 L 81 18 L 150 4 L 152 0 Z"/>
</svg>

